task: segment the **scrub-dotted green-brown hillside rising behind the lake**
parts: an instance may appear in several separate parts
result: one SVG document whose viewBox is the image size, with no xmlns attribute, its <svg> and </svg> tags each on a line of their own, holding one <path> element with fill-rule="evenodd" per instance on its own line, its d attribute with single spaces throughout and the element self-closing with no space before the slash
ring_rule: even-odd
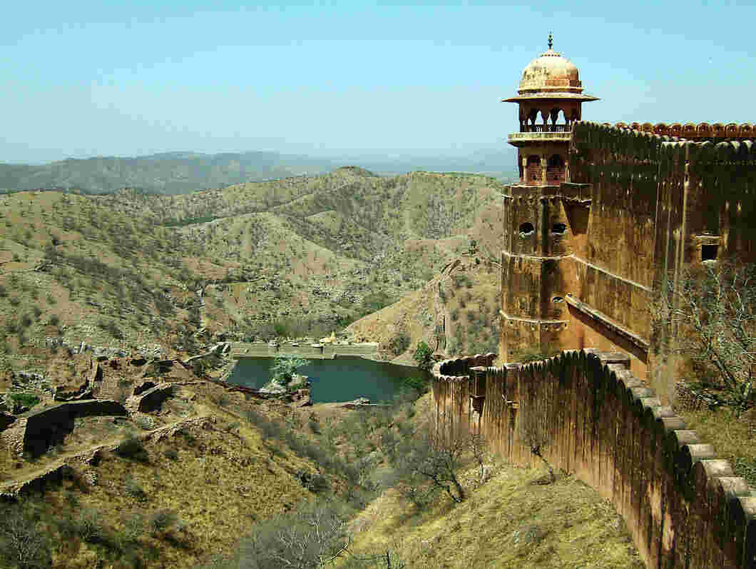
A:
<svg viewBox="0 0 756 569">
<path fill-rule="evenodd" d="M 384 178 L 348 167 L 181 196 L 6 194 L 3 377 L 43 372 L 53 345 L 152 346 L 172 356 L 195 353 L 216 333 L 320 337 L 408 293 L 423 296 L 429 282 L 437 296 L 442 269 L 462 255 L 481 288 L 450 285 L 450 297 L 464 290 L 445 309 L 439 349 L 493 346 L 501 189 L 484 176 Z M 388 347 L 389 328 L 368 339 Z M 466 340 L 467 328 L 477 337 Z"/>
</svg>

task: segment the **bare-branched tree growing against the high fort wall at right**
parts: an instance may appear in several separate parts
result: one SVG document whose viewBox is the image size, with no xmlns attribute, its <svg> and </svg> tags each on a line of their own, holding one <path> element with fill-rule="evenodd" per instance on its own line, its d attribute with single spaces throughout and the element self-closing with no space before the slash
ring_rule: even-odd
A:
<svg viewBox="0 0 756 569">
<path fill-rule="evenodd" d="M 714 389 L 736 415 L 754 405 L 756 266 L 686 267 L 677 280 L 665 280 L 654 316 L 655 335 L 689 358 L 698 387 Z"/>
</svg>

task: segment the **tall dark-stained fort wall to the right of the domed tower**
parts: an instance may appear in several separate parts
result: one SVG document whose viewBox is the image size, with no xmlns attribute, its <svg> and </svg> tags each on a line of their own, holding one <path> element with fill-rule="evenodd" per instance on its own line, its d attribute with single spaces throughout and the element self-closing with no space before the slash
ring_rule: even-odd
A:
<svg viewBox="0 0 756 569">
<path fill-rule="evenodd" d="M 696 132 L 708 129 L 700 127 Z M 569 254 L 553 261 L 554 274 L 541 281 L 550 285 L 550 294 L 570 294 L 575 300 L 563 303 L 561 318 L 568 325 L 555 347 L 630 353 L 634 373 L 667 403 L 674 400 L 678 364 L 665 347 L 671 331 L 653 331 L 649 307 L 665 279 L 676 284 L 685 266 L 733 257 L 756 261 L 756 201 L 751 199 L 756 194 L 756 145 L 750 140 L 691 141 L 654 130 L 673 132 L 575 123 L 571 183 L 560 191 L 583 188 L 587 222 L 569 219 L 575 217 L 569 208 L 577 206 L 567 207 L 563 241 Z M 528 288 L 519 275 L 523 270 L 504 275 L 508 296 L 503 312 L 510 317 L 520 315 L 509 289 L 516 296 Z M 538 288 L 530 288 L 532 297 Z M 547 300 L 541 298 L 544 304 Z M 538 345 L 538 338 L 519 338 L 512 325 L 504 338 L 510 342 L 503 346 Z M 616 334 L 618 327 L 640 344 Z"/>
</svg>

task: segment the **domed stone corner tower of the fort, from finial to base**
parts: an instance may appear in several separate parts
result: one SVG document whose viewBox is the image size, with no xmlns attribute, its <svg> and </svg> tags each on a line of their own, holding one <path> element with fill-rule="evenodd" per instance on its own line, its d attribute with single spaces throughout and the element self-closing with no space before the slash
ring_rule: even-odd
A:
<svg viewBox="0 0 756 569">
<path fill-rule="evenodd" d="M 522 71 L 517 96 L 519 132 L 510 134 L 518 149 L 519 183 L 503 200 L 501 253 L 501 362 L 523 350 L 550 353 L 579 347 L 572 337 L 566 291 L 578 275 L 569 263 L 587 231 L 590 201 L 570 184 L 572 125 L 584 102 L 578 68 L 549 49 Z M 576 196 L 577 193 L 577 196 Z"/>
</svg>

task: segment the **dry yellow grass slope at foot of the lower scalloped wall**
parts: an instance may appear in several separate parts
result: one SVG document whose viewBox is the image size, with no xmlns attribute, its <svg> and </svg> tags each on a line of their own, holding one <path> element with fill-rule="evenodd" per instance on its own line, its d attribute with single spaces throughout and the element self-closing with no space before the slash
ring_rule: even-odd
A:
<svg viewBox="0 0 756 569">
<path fill-rule="evenodd" d="M 543 474 L 503 466 L 466 502 L 423 513 L 386 493 L 356 522 L 355 552 L 392 549 L 413 569 L 643 567 L 611 504 L 572 477 L 531 483 Z"/>
</svg>

